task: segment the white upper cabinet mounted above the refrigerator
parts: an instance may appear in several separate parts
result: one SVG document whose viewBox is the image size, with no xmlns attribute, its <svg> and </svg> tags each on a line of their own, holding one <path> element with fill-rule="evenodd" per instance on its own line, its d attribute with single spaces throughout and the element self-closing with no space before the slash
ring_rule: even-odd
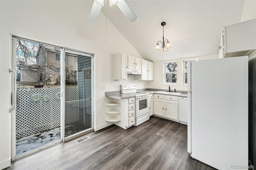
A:
<svg viewBox="0 0 256 170">
<path fill-rule="evenodd" d="M 248 55 L 256 49 L 256 19 L 225 26 L 219 58 Z"/>
</svg>

